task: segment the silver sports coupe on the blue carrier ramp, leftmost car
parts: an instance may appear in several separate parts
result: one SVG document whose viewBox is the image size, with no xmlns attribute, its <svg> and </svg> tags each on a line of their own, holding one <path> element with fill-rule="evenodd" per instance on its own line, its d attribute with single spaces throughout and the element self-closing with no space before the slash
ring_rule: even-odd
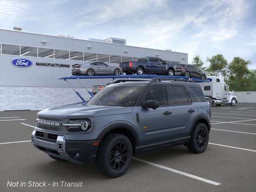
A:
<svg viewBox="0 0 256 192">
<path fill-rule="evenodd" d="M 72 65 L 72 75 L 121 75 L 122 68 L 118 64 L 106 64 L 103 62 L 88 62 Z"/>
</svg>

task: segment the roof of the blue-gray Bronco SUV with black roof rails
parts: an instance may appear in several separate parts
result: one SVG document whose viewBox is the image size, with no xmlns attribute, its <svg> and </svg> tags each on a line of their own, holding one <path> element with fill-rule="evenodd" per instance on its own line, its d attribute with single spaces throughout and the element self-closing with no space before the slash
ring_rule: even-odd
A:
<svg viewBox="0 0 256 192">
<path fill-rule="evenodd" d="M 180 85 L 188 87 L 201 88 L 198 83 L 182 82 L 182 81 L 161 81 L 161 82 L 150 82 L 150 81 L 138 81 L 138 82 L 120 82 L 110 84 L 108 86 L 149 86 L 149 85 Z"/>
</svg>

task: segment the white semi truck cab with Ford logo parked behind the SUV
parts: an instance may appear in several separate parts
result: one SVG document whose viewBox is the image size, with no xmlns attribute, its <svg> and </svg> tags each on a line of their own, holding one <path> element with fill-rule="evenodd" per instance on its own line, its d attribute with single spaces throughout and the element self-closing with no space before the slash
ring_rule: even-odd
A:
<svg viewBox="0 0 256 192">
<path fill-rule="evenodd" d="M 237 104 L 237 98 L 233 95 L 234 90 L 232 92 L 228 91 L 228 86 L 224 80 L 217 76 L 208 76 L 201 87 L 206 101 L 210 105 L 226 104 L 235 106 Z"/>
</svg>

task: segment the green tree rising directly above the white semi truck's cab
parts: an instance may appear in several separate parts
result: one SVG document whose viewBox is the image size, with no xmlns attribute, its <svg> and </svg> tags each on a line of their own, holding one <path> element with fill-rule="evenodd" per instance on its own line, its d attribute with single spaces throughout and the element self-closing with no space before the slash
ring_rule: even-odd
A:
<svg viewBox="0 0 256 192">
<path fill-rule="evenodd" d="M 226 67 L 228 65 L 228 61 L 224 58 L 222 54 L 217 54 L 212 56 L 211 58 L 207 58 L 206 62 L 210 62 L 210 66 L 207 68 L 208 75 L 226 76 Z"/>
</svg>

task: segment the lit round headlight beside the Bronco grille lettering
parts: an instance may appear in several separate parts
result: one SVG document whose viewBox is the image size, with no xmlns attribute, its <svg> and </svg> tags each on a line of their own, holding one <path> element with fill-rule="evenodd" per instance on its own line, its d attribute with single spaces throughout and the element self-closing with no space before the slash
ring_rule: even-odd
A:
<svg viewBox="0 0 256 192">
<path fill-rule="evenodd" d="M 88 119 L 70 119 L 65 124 L 70 132 L 86 132 L 91 128 L 91 122 Z"/>
</svg>

